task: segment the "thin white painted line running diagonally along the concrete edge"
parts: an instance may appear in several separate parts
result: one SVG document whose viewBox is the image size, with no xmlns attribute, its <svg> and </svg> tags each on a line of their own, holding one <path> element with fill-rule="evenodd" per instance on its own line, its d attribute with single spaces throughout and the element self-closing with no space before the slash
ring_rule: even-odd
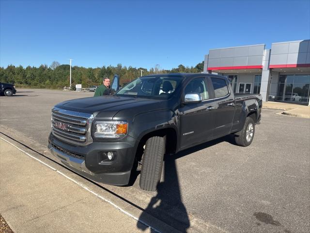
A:
<svg viewBox="0 0 310 233">
<path fill-rule="evenodd" d="M 93 192 L 92 190 L 90 190 L 88 187 L 85 187 L 82 183 L 79 183 L 79 182 L 73 180 L 72 178 L 66 176 L 66 175 L 63 174 L 61 171 L 57 170 L 56 168 L 54 168 L 54 167 L 52 167 L 52 166 L 49 166 L 49 165 L 47 165 L 46 163 L 44 163 L 43 161 L 41 161 L 41 160 L 39 160 L 39 159 L 33 157 L 31 154 L 29 154 L 29 153 L 27 153 L 26 151 L 24 151 L 24 150 L 22 150 L 22 149 L 16 147 L 14 144 L 12 144 L 11 142 L 5 140 L 4 138 L 2 138 L 2 137 L 0 137 L 0 138 L 1 138 L 3 141 L 6 141 L 7 143 L 11 144 L 12 146 L 14 146 L 15 148 L 17 148 L 18 150 L 22 151 L 23 153 L 27 154 L 29 157 L 31 157 L 31 158 L 33 158 L 33 159 L 39 161 L 40 163 L 44 164 L 45 166 L 48 166 L 50 169 L 52 169 L 52 170 L 58 172 L 59 174 L 61 174 L 61 175 L 64 176 L 65 178 L 69 179 L 70 181 L 72 181 L 72 182 L 78 184 L 79 186 L 81 186 L 81 187 L 84 188 L 85 190 L 89 191 L 89 192 L 92 193 L 93 195 L 97 196 L 97 197 L 100 198 L 101 200 L 104 200 L 104 201 L 108 202 L 108 203 L 111 204 L 113 207 L 115 207 L 116 209 L 118 209 L 118 210 L 120 210 L 121 212 L 123 212 L 125 215 L 127 215 L 127 216 L 129 216 L 129 217 L 135 219 L 136 221 L 138 221 L 138 222 L 144 224 L 145 226 L 147 226 L 147 227 L 150 228 L 151 230 L 153 230 L 153 231 L 155 231 L 155 232 L 157 232 L 157 233 L 161 233 L 160 231 L 156 230 L 154 227 L 150 226 L 150 225 L 147 224 L 146 222 L 140 220 L 138 217 L 129 214 L 127 211 L 123 210 L 121 207 L 117 206 L 117 205 L 114 204 L 112 201 L 110 201 L 110 200 L 108 200 L 108 199 L 105 199 L 104 197 L 102 197 L 102 196 L 100 196 L 99 194 L 97 194 L 97 193 Z"/>
</svg>

